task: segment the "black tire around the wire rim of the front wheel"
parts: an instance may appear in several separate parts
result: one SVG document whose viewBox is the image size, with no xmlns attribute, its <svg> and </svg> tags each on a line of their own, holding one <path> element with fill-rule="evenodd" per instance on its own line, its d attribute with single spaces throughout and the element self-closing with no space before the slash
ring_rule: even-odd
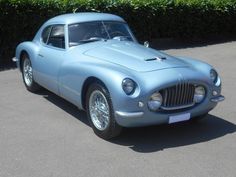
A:
<svg viewBox="0 0 236 177">
<path fill-rule="evenodd" d="M 109 105 L 109 115 L 110 115 L 109 116 L 109 123 L 108 123 L 106 129 L 104 129 L 104 130 L 99 130 L 94 125 L 92 118 L 91 118 L 89 101 L 90 101 L 91 94 L 94 91 L 100 91 L 105 96 L 106 101 Z M 90 123 L 94 133 L 97 136 L 99 136 L 105 140 L 108 140 L 108 139 L 118 136 L 121 133 L 122 127 L 116 123 L 110 94 L 103 84 L 97 82 L 97 83 L 93 83 L 90 85 L 90 87 L 87 91 L 87 94 L 86 94 L 86 111 L 87 111 L 87 117 L 88 117 L 89 123 Z"/>
</svg>

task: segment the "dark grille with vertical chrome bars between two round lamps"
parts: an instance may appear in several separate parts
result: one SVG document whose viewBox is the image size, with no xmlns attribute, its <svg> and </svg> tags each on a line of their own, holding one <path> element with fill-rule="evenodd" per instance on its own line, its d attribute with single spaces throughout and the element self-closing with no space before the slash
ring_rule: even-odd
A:
<svg viewBox="0 0 236 177">
<path fill-rule="evenodd" d="M 175 110 L 194 105 L 195 86 L 190 83 L 180 83 L 160 91 L 163 97 L 161 108 Z"/>
</svg>

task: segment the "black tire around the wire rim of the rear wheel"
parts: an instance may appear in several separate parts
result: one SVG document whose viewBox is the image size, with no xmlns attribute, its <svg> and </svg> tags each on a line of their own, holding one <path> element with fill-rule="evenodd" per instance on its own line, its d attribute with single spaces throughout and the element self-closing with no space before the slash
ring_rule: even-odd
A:
<svg viewBox="0 0 236 177">
<path fill-rule="evenodd" d="M 27 81 L 26 81 L 26 77 L 25 77 L 25 71 L 24 71 L 24 63 L 26 61 L 29 61 L 29 64 L 31 65 L 31 60 L 28 56 L 28 54 L 23 54 L 22 56 L 22 61 L 21 61 L 21 71 L 22 71 L 22 78 L 23 78 L 23 82 L 25 84 L 25 87 L 27 88 L 27 90 L 29 90 L 30 92 L 37 92 L 40 90 L 40 86 L 34 81 L 34 77 L 33 77 L 33 71 L 32 71 L 32 82 L 29 84 Z M 31 65 L 31 68 L 32 68 L 32 65 Z M 33 70 L 33 68 L 32 68 Z"/>
</svg>

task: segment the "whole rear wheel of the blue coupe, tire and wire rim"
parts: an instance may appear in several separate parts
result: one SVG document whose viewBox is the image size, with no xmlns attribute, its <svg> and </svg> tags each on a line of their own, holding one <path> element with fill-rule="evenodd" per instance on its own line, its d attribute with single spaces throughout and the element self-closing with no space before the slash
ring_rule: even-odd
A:
<svg viewBox="0 0 236 177">
<path fill-rule="evenodd" d="M 27 54 L 24 54 L 22 58 L 22 77 L 27 90 L 36 92 L 40 89 L 40 86 L 34 81 L 33 68 Z"/>
</svg>

